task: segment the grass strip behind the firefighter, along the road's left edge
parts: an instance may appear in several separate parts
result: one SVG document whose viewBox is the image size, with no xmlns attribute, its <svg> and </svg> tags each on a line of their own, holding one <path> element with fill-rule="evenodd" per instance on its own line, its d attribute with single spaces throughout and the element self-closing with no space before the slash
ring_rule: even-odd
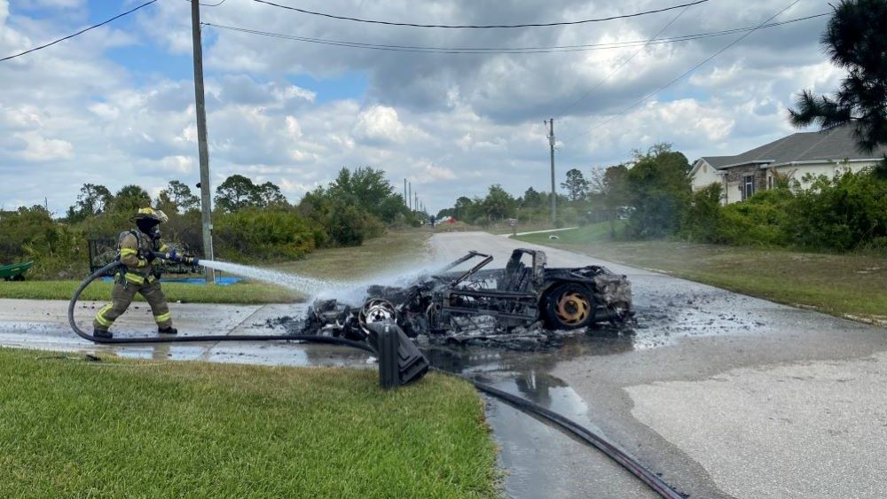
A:
<svg viewBox="0 0 887 499">
<path fill-rule="evenodd" d="M 333 248 L 311 253 L 305 260 L 260 267 L 311 277 L 342 280 L 372 276 L 400 265 L 411 265 L 425 257 L 430 230 L 391 230 L 381 238 L 373 238 L 364 246 Z M 84 276 L 85 277 L 85 276 Z M 69 300 L 80 281 L 0 281 L 0 298 L 35 300 Z M 82 300 L 108 300 L 111 283 L 95 282 L 82 294 Z M 304 300 L 297 292 L 261 282 L 240 282 L 235 285 L 207 286 L 167 283 L 163 285 L 169 301 L 186 303 L 287 303 Z M 137 298 L 141 300 L 141 296 Z"/>
</svg>

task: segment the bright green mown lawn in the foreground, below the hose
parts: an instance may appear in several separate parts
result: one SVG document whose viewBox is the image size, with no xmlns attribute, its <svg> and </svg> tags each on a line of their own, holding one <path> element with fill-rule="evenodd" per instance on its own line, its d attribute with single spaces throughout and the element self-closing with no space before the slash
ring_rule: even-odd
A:
<svg viewBox="0 0 887 499">
<path fill-rule="evenodd" d="M 85 363 L 0 349 L 3 497 L 489 497 L 483 402 L 440 375 Z"/>
</svg>

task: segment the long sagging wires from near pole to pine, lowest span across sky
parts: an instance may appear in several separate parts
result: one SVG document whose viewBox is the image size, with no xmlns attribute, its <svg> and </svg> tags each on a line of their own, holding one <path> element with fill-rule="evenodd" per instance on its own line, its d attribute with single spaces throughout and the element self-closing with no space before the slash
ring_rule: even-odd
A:
<svg viewBox="0 0 887 499">
<path fill-rule="evenodd" d="M 831 13 L 821 13 L 803 18 L 789 19 L 781 22 L 765 24 L 764 26 L 754 27 L 736 27 L 733 29 L 725 29 L 722 31 L 711 31 L 707 33 L 697 33 L 695 35 L 681 35 L 666 38 L 651 38 L 648 40 L 633 40 L 628 42 L 613 43 L 587 43 L 582 45 L 553 45 L 553 46 L 536 46 L 536 47 L 432 47 L 420 45 L 392 45 L 384 43 L 364 43 L 353 42 L 348 40 L 332 40 L 326 38 L 312 38 L 308 36 L 287 35 L 284 33 L 273 33 L 261 31 L 257 29 L 249 29 L 246 27 L 234 27 L 213 23 L 202 23 L 204 26 L 217 27 L 229 31 L 237 31 L 250 35 L 270 36 L 272 38 L 280 38 L 304 43 L 319 43 L 324 45 L 335 45 L 341 47 L 349 47 L 354 49 L 367 49 L 375 51 L 402 51 L 402 52 L 424 52 L 424 53 L 442 53 L 442 54 L 534 54 L 534 53 L 551 53 L 551 52 L 575 52 L 575 51 L 602 51 L 613 49 L 625 49 L 631 47 L 646 47 L 649 45 L 660 45 L 666 43 L 689 42 L 702 38 L 711 38 L 724 35 L 733 35 L 734 33 L 742 33 L 744 31 L 753 31 L 763 29 L 765 27 L 778 27 L 787 24 L 800 22 L 808 19 L 816 19 L 831 15 Z"/>
</svg>

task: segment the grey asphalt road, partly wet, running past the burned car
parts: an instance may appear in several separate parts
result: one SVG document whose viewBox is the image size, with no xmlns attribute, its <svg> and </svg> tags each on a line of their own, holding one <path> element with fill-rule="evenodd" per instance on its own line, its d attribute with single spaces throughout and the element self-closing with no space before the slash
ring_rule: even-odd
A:
<svg viewBox="0 0 887 499">
<path fill-rule="evenodd" d="M 484 233 L 441 234 L 432 246 L 437 258 L 491 253 L 498 266 L 514 247 L 540 248 Z M 887 330 L 542 249 L 552 266 L 596 263 L 630 277 L 637 329 L 580 334 L 553 352 L 475 354 L 464 370 L 585 418 L 692 497 L 887 496 Z M 592 451 L 545 441 L 569 458 L 543 467 L 572 468 L 548 496 L 635 496 L 617 470 L 590 464 L 600 459 Z M 503 460 L 531 466 L 508 442 Z M 578 483 L 592 472 L 609 487 Z M 545 474 L 506 488 L 538 496 L 522 490 Z"/>
</svg>

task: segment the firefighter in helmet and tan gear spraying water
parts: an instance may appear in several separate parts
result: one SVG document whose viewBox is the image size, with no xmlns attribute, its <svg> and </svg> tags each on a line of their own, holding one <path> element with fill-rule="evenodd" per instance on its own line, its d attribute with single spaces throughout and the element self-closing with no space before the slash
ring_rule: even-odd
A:
<svg viewBox="0 0 887 499">
<path fill-rule="evenodd" d="M 118 239 L 122 265 L 114 276 L 111 303 L 98 310 L 92 323 L 92 334 L 97 338 L 114 338 L 108 329 L 130 307 L 136 293 L 144 296 L 151 306 L 157 331 L 177 334 L 176 328 L 172 327 L 172 316 L 161 290 L 160 272 L 153 268 L 153 262 L 157 258 L 155 253 L 166 253 L 163 257 L 166 260 L 180 261 L 176 250 L 162 244 L 160 240 L 160 224 L 167 221 L 167 215 L 150 207 L 142 208 L 130 221 L 136 222 L 137 229 L 122 232 Z"/>
</svg>

